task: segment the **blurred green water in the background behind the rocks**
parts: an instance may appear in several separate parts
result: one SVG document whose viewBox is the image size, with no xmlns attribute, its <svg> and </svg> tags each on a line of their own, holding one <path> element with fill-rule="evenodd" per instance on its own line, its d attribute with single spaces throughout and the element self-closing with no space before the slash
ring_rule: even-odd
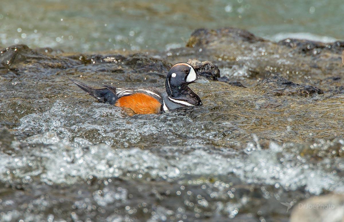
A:
<svg viewBox="0 0 344 222">
<path fill-rule="evenodd" d="M 343 39 L 342 0 L 2 0 L 0 46 L 65 51 L 165 50 L 193 30 L 233 26 L 279 40 Z M 330 37 L 330 38 L 322 38 Z"/>
</svg>

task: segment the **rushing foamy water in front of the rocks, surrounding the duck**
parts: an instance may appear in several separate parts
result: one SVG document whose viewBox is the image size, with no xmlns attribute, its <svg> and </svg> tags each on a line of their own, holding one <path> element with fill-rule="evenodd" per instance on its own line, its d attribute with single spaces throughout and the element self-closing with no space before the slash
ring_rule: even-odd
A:
<svg viewBox="0 0 344 222">
<path fill-rule="evenodd" d="M 21 56 L 0 87 L 1 221 L 287 221 L 280 202 L 344 190 L 342 93 L 278 97 L 212 81 L 192 85 L 203 107 L 129 116 L 65 76 L 162 86 L 161 54 L 107 63 L 12 50 Z M 222 68 L 256 81 L 235 70 Z"/>
</svg>

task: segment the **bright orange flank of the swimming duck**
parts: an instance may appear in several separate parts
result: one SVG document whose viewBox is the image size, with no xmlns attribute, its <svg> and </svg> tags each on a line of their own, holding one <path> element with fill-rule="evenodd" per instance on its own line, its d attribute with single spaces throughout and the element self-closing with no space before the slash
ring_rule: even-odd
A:
<svg viewBox="0 0 344 222">
<path fill-rule="evenodd" d="M 161 107 L 158 100 L 144 93 L 123 96 L 117 100 L 115 105 L 130 108 L 136 114 L 158 114 Z"/>
</svg>

